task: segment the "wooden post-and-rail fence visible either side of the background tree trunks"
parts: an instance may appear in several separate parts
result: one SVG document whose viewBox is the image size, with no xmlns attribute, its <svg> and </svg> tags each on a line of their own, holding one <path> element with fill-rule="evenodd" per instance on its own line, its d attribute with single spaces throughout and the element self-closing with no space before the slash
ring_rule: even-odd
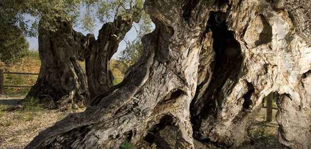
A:
<svg viewBox="0 0 311 149">
<path fill-rule="evenodd" d="M 11 72 L 0 69 L 0 95 L 4 95 L 4 87 L 32 87 L 33 85 L 4 85 L 4 74 L 19 74 L 19 75 L 39 75 L 33 72 Z M 123 79 L 124 77 L 114 77 L 115 79 Z"/>
</svg>

